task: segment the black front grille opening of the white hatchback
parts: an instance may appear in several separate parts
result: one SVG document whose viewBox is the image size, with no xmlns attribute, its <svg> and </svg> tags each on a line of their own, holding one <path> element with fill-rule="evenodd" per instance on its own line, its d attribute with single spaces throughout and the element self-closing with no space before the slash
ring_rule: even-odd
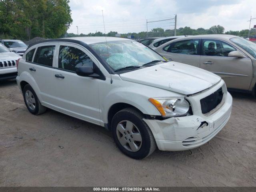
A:
<svg viewBox="0 0 256 192">
<path fill-rule="evenodd" d="M 216 108 L 222 101 L 223 91 L 219 88 L 216 92 L 200 100 L 202 114 L 206 114 Z"/>
</svg>

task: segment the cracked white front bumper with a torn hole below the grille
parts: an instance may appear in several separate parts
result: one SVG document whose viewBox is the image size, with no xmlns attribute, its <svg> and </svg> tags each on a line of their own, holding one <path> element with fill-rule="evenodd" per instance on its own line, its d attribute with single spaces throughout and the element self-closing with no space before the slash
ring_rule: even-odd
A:
<svg viewBox="0 0 256 192">
<path fill-rule="evenodd" d="M 201 146 L 211 140 L 228 122 L 232 96 L 226 92 L 224 104 L 210 116 L 191 115 L 166 120 L 144 119 L 159 150 L 180 151 Z"/>
</svg>

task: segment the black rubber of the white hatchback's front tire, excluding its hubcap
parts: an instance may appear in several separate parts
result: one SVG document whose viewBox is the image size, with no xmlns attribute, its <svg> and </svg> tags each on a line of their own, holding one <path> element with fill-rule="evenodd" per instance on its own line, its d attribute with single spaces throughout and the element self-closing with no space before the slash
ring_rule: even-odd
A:
<svg viewBox="0 0 256 192">
<path fill-rule="evenodd" d="M 111 131 L 116 145 L 124 154 L 134 159 L 146 158 L 156 149 L 156 141 L 154 136 L 148 125 L 144 122 L 143 118 L 144 116 L 142 113 L 135 108 L 125 108 L 117 112 L 111 122 Z M 140 132 L 142 143 L 140 145 L 140 149 L 136 152 L 127 150 L 118 140 L 117 126 L 120 122 L 125 120 L 132 122 L 136 126 L 136 129 L 138 129 Z M 128 142 L 127 144 L 129 146 Z"/>
</svg>

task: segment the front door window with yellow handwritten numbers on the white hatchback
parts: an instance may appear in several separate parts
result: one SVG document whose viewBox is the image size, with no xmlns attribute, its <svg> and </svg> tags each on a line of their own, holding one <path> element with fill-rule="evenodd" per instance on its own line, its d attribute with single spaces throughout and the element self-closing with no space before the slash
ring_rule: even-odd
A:
<svg viewBox="0 0 256 192">
<path fill-rule="evenodd" d="M 70 46 L 60 46 L 58 68 L 76 71 L 81 66 L 93 67 L 93 61 L 82 50 Z"/>
</svg>

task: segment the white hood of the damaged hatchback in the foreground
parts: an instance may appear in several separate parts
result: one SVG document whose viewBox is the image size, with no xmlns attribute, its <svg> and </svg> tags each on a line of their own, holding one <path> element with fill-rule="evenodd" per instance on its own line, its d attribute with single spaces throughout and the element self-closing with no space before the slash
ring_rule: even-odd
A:
<svg viewBox="0 0 256 192">
<path fill-rule="evenodd" d="M 220 81 L 206 70 L 178 62 L 166 62 L 120 74 L 122 80 L 190 95 L 205 90 Z"/>
</svg>

